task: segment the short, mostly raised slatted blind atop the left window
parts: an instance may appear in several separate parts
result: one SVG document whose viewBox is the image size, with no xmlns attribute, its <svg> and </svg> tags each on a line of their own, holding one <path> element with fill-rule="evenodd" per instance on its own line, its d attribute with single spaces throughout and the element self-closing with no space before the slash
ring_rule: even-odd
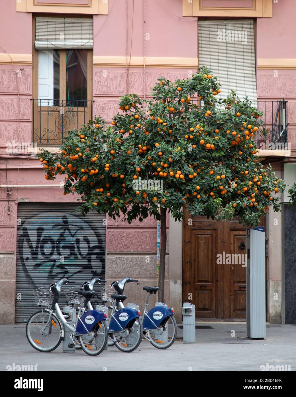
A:
<svg viewBox="0 0 296 397">
<path fill-rule="evenodd" d="M 93 20 L 36 17 L 35 40 L 39 50 L 93 48 Z"/>
</svg>

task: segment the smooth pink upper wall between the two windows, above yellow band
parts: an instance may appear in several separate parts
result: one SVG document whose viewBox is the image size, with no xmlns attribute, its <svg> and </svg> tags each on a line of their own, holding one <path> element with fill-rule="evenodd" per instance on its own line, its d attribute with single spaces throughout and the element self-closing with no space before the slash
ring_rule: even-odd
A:
<svg viewBox="0 0 296 397">
<path fill-rule="evenodd" d="M 128 29 L 125 1 L 109 0 L 109 16 L 94 15 L 94 55 L 130 54 L 132 0 L 127 3 Z M 181 0 L 146 0 L 145 33 L 146 56 L 197 56 L 197 23 L 182 17 Z M 143 35 L 143 1 L 135 1 L 132 56 L 143 56 Z"/>
</svg>

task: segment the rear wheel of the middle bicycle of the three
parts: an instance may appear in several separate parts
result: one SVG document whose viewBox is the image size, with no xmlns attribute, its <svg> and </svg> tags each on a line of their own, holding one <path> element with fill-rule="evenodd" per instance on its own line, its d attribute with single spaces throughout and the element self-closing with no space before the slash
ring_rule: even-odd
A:
<svg viewBox="0 0 296 397">
<path fill-rule="evenodd" d="M 122 332 L 114 332 L 111 338 L 117 349 L 130 353 L 137 349 L 142 341 L 143 327 L 139 318 L 132 320 Z"/>
</svg>

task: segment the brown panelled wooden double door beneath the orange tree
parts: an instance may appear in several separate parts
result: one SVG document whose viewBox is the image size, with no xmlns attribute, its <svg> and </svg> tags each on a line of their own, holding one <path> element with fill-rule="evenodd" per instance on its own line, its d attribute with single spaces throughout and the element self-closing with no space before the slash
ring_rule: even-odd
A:
<svg viewBox="0 0 296 397">
<path fill-rule="evenodd" d="M 183 302 L 197 319 L 245 319 L 247 227 L 187 212 L 183 225 Z"/>
</svg>

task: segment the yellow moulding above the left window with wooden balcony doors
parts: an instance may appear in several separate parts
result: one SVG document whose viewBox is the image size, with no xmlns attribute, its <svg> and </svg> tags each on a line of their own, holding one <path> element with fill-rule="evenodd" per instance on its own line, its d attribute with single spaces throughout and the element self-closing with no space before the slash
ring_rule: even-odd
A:
<svg viewBox="0 0 296 397">
<path fill-rule="evenodd" d="M 17 12 L 108 15 L 108 0 L 88 0 L 88 4 L 38 4 L 36 0 L 15 1 Z"/>
</svg>

